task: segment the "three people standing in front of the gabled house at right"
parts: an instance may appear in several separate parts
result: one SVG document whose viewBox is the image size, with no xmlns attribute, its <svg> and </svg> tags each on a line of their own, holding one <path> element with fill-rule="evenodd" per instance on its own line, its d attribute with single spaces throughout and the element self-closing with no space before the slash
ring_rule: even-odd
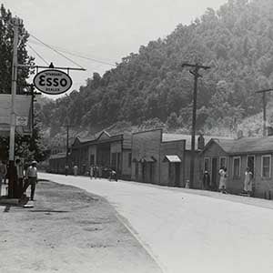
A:
<svg viewBox="0 0 273 273">
<path fill-rule="evenodd" d="M 220 167 L 218 171 L 218 175 L 219 175 L 219 183 L 217 187 L 212 184 L 209 173 L 206 170 L 203 175 L 203 188 L 208 190 L 218 190 L 222 192 L 223 194 L 226 194 L 227 193 L 227 167 Z M 252 191 L 253 191 L 253 173 L 251 172 L 249 167 L 247 167 L 245 171 L 243 190 L 244 190 L 244 193 L 248 194 L 249 196 L 252 194 Z"/>
</svg>

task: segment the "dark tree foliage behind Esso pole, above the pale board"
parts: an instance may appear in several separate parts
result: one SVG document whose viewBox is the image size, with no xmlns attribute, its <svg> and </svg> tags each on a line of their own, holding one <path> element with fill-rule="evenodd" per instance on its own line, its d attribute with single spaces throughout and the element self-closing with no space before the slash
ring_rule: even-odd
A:
<svg viewBox="0 0 273 273">
<path fill-rule="evenodd" d="M 14 42 L 14 25 L 9 10 L 6 10 L 2 4 L 0 7 L 0 94 L 11 93 L 11 78 L 13 64 L 13 42 Z M 26 32 L 24 25 L 19 26 L 19 45 L 18 45 L 18 63 L 20 65 L 34 65 L 34 58 L 29 56 L 26 51 L 26 42 L 29 34 Z M 28 67 L 18 69 L 17 94 L 22 94 L 26 85 L 26 79 L 32 70 Z"/>
</svg>

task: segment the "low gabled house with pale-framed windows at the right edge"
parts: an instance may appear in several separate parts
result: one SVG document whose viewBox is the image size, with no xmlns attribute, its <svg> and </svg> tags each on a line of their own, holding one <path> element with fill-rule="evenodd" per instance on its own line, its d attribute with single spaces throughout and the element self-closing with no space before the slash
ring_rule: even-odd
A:
<svg viewBox="0 0 273 273">
<path fill-rule="evenodd" d="M 269 198 L 273 193 L 272 156 L 273 136 L 211 139 L 201 153 L 201 171 L 207 170 L 218 185 L 218 170 L 227 167 L 227 191 L 240 194 L 248 167 L 253 174 L 253 195 Z"/>
</svg>

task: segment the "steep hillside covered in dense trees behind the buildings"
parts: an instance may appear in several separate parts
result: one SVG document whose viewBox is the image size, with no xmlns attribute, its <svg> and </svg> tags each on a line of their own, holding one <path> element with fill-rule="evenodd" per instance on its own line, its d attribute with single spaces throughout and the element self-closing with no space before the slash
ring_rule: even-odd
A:
<svg viewBox="0 0 273 273">
<path fill-rule="evenodd" d="M 66 116 L 92 131 L 116 122 L 188 130 L 193 76 L 182 69 L 184 62 L 211 66 L 200 71 L 197 129 L 235 131 L 261 111 L 255 91 L 273 87 L 273 1 L 229 0 L 217 11 L 208 8 L 165 39 L 141 45 L 103 76 L 94 73 L 80 90 L 45 104 L 40 119 L 52 136 Z"/>
</svg>

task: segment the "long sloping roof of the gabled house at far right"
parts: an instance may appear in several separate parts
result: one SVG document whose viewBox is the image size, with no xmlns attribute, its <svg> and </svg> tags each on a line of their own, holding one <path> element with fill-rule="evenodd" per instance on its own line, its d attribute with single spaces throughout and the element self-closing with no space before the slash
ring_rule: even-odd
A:
<svg viewBox="0 0 273 273">
<path fill-rule="evenodd" d="M 227 154 L 267 153 L 273 151 L 273 136 L 241 137 L 235 140 L 213 138 L 213 140 Z"/>
</svg>

